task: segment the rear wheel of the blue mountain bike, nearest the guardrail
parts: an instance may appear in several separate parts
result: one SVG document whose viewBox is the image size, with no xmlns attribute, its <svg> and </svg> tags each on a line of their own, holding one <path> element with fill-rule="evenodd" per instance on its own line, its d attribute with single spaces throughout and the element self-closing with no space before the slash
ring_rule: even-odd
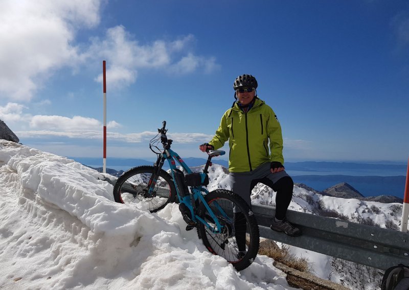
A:
<svg viewBox="0 0 409 290">
<path fill-rule="evenodd" d="M 219 255 L 240 271 L 256 258 L 260 246 L 260 234 L 256 218 L 247 203 L 230 190 L 216 189 L 205 200 L 223 226 L 222 233 L 213 233 L 202 223 L 198 233 L 208 250 Z M 236 213 L 233 213 L 235 208 Z M 199 216 L 210 226 L 216 227 L 205 205 L 198 210 Z"/>
</svg>

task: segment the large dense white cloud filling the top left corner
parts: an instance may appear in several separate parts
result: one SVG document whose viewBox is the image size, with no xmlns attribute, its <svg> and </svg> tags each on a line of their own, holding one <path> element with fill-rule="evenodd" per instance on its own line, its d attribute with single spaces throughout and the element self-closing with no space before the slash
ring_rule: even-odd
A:
<svg viewBox="0 0 409 290">
<path fill-rule="evenodd" d="M 99 23 L 99 0 L 4 0 L 0 97 L 27 101 L 54 69 L 78 58 L 76 29 Z"/>
</svg>

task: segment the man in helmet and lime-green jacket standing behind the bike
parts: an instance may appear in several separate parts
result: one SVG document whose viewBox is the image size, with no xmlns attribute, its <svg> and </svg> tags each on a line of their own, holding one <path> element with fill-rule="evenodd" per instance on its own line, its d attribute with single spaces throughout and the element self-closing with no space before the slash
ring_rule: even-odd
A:
<svg viewBox="0 0 409 290">
<path fill-rule="evenodd" d="M 285 219 L 294 184 L 283 166 L 281 126 L 274 111 L 258 98 L 257 86 L 257 80 L 252 75 L 236 78 L 233 83 L 236 101 L 221 117 L 213 139 L 201 144 L 199 149 L 203 152 L 207 149 L 219 149 L 229 140 L 232 191 L 240 195 L 249 206 L 251 191 L 258 182 L 277 191 L 276 214 L 271 219 L 270 228 L 289 236 L 299 236 L 301 229 Z M 235 213 L 236 232 L 242 218 L 241 212 Z M 243 240 L 243 237 L 239 238 L 236 234 L 236 240 L 239 251 L 245 250 L 245 237 Z"/>
</svg>

